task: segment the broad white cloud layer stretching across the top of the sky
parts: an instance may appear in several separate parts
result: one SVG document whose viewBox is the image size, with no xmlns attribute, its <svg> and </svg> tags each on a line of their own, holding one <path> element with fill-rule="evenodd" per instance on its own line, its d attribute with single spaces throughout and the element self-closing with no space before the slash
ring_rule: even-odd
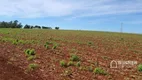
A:
<svg viewBox="0 0 142 80">
<path fill-rule="evenodd" d="M 0 15 L 23 18 L 128 14 L 142 12 L 142 0 L 1 0 Z"/>
</svg>

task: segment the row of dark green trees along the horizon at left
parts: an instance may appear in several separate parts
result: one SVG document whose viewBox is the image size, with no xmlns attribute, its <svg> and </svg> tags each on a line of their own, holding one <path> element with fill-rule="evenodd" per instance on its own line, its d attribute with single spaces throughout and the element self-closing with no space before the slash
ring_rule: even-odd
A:
<svg viewBox="0 0 142 80">
<path fill-rule="evenodd" d="M 46 26 L 39 26 L 39 25 L 22 25 L 18 20 L 6 22 L 2 21 L 0 22 L 0 28 L 24 28 L 24 29 L 52 29 L 51 27 Z M 59 27 L 55 27 L 56 30 L 59 29 Z"/>
</svg>

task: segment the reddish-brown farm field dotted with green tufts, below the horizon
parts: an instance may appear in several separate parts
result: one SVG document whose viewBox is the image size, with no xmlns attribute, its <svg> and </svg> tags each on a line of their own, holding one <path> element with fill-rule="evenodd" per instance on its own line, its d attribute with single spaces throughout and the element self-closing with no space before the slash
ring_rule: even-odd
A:
<svg viewBox="0 0 142 80">
<path fill-rule="evenodd" d="M 110 68 L 112 60 L 137 61 Z M 142 35 L 0 29 L 1 80 L 142 80 Z"/>
</svg>

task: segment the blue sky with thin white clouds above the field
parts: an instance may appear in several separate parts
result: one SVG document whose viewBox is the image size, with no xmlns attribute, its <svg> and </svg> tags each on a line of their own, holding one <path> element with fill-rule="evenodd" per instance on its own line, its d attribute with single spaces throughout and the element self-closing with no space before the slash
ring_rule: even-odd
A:
<svg viewBox="0 0 142 80">
<path fill-rule="evenodd" d="M 0 21 L 142 33 L 142 0 L 0 0 Z"/>
</svg>

